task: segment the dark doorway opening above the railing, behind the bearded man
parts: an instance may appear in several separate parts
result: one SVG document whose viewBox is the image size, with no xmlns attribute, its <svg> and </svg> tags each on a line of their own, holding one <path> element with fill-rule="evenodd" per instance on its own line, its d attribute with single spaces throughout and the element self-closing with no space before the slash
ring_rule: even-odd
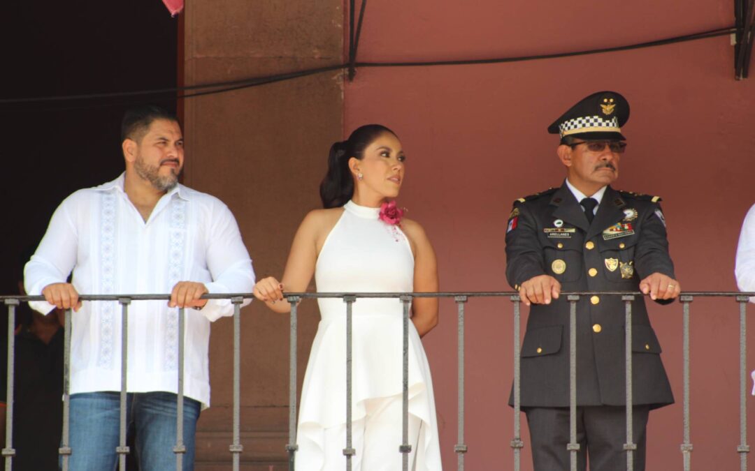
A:
<svg viewBox="0 0 755 471">
<path fill-rule="evenodd" d="M 175 87 L 178 19 L 160 0 L 2 2 L 0 99 Z M 149 96 L 175 111 L 170 95 Z M 67 195 L 123 170 L 119 125 L 144 97 L 0 104 L 0 293 Z"/>
</svg>

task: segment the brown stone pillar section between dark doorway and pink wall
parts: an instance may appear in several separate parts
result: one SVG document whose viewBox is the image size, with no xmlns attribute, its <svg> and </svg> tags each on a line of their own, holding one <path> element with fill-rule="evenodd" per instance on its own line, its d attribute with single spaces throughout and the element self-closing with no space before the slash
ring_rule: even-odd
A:
<svg viewBox="0 0 755 471">
<path fill-rule="evenodd" d="M 341 61 L 341 2 L 187 2 L 185 83 L 291 72 Z M 334 21 L 337 18 L 339 21 Z M 236 215 L 257 276 L 283 271 L 298 223 L 319 202 L 322 149 L 341 136 L 336 73 L 186 100 L 187 185 L 220 197 Z M 299 371 L 317 322 L 305 304 Z M 233 323 L 211 337 L 212 405 L 202 413 L 197 469 L 228 469 L 232 441 Z M 243 469 L 285 469 L 288 317 L 254 303 L 242 310 Z"/>
</svg>

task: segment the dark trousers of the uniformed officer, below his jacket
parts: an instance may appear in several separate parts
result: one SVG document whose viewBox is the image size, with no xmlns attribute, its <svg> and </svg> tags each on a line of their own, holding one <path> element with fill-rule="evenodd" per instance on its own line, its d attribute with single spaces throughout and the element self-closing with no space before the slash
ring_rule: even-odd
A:
<svg viewBox="0 0 755 471">
<path fill-rule="evenodd" d="M 633 408 L 634 471 L 645 469 L 645 429 L 650 408 Z M 569 408 L 526 408 L 532 440 L 535 471 L 569 471 Z M 586 471 L 624 471 L 627 469 L 626 409 L 599 405 L 577 408 L 577 469 Z"/>
</svg>

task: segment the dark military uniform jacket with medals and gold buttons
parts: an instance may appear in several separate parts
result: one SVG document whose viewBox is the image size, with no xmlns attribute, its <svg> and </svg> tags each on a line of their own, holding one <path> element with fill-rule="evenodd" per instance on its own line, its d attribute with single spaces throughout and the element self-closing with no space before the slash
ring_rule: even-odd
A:
<svg viewBox="0 0 755 471">
<path fill-rule="evenodd" d="M 507 279 L 547 274 L 562 292 L 639 291 L 659 272 L 675 278 L 657 197 L 606 188 L 592 224 L 564 183 L 514 202 L 506 234 Z M 583 296 L 577 304 L 577 403 L 624 405 L 624 301 Z M 632 302 L 633 403 L 673 403 L 661 345 L 645 301 Z M 522 407 L 569 406 L 569 301 L 532 304 L 521 362 Z M 513 399 L 510 399 L 513 403 Z"/>
</svg>

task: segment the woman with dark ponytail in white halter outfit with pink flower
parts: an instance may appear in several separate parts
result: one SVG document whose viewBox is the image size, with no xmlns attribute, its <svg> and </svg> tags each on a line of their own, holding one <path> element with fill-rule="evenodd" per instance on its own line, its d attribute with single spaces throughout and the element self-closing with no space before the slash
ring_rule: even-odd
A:
<svg viewBox="0 0 755 471">
<path fill-rule="evenodd" d="M 402 219 L 389 200 L 399 195 L 405 154 L 379 124 L 336 142 L 320 185 L 323 210 L 307 214 L 294 237 L 281 281 L 260 280 L 254 295 L 270 309 L 291 310 L 284 292 L 304 292 L 314 274 L 318 292 L 436 292 L 433 246 L 421 225 Z M 318 300 L 322 320 L 304 375 L 297 471 L 345 469 L 346 304 Z M 402 469 L 402 316 L 396 298 L 353 304 L 354 471 Z M 433 384 L 420 337 L 438 323 L 438 301 L 417 298 L 409 324 L 409 469 L 441 469 Z"/>
</svg>

